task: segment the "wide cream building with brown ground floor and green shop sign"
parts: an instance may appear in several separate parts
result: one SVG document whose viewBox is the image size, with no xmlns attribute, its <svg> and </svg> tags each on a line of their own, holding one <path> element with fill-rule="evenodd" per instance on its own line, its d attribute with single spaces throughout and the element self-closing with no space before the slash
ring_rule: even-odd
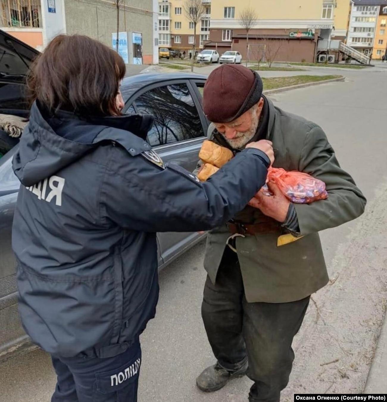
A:
<svg viewBox="0 0 387 402">
<path fill-rule="evenodd" d="M 247 58 L 247 35 L 240 20 L 246 7 L 258 19 L 249 32 L 249 57 L 313 62 L 319 39 L 345 41 L 350 0 L 212 0 L 206 48 L 236 50 Z"/>
</svg>

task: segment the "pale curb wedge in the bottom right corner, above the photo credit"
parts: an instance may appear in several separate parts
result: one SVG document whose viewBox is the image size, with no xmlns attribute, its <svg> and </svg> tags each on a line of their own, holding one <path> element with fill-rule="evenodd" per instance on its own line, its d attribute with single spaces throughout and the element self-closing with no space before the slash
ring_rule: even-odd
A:
<svg viewBox="0 0 387 402">
<path fill-rule="evenodd" d="M 387 394 L 387 315 L 384 318 L 364 394 Z"/>
</svg>

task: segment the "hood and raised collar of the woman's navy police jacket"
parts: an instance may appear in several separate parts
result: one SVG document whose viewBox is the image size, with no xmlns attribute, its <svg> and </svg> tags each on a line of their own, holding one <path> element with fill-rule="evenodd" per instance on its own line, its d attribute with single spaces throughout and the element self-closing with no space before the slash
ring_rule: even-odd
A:
<svg viewBox="0 0 387 402">
<path fill-rule="evenodd" d="M 147 150 L 145 138 L 152 124 L 151 115 L 99 117 L 86 121 L 72 113 L 60 112 L 55 118 L 47 119 L 35 102 L 12 168 L 20 182 L 28 187 L 76 162 L 100 142 L 114 141 L 115 137 L 125 148 L 130 144 L 130 149 L 137 150 L 138 154 Z M 71 135 L 64 135 L 68 133 Z"/>
</svg>

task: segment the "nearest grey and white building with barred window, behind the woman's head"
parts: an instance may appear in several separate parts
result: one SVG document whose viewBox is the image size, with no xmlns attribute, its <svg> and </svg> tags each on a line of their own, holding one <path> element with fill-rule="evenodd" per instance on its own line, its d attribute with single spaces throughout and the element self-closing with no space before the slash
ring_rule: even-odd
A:
<svg viewBox="0 0 387 402">
<path fill-rule="evenodd" d="M 80 33 L 113 46 L 117 31 L 114 0 L 0 0 L 0 29 L 43 50 L 61 33 Z M 158 0 L 125 0 L 119 12 L 127 62 L 158 63 Z"/>
</svg>

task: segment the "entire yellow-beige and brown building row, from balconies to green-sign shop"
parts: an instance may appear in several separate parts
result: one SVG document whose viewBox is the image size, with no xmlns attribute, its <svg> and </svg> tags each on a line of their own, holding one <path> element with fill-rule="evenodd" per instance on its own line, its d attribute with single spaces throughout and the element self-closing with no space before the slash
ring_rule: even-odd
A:
<svg viewBox="0 0 387 402">
<path fill-rule="evenodd" d="M 159 47 L 190 49 L 192 24 L 184 14 L 184 0 L 159 1 Z M 240 51 L 246 59 L 313 62 L 319 39 L 346 41 L 351 0 L 203 0 L 206 14 L 197 26 L 197 47 Z M 249 32 L 240 13 L 253 8 L 257 19 Z M 164 22 L 163 20 L 169 20 Z M 162 21 L 162 22 L 160 22 Z M 199 45 L 199 46 L 198 46 Z M 269 51 L 267 51 L 269 49 Z"/>
</svg>

